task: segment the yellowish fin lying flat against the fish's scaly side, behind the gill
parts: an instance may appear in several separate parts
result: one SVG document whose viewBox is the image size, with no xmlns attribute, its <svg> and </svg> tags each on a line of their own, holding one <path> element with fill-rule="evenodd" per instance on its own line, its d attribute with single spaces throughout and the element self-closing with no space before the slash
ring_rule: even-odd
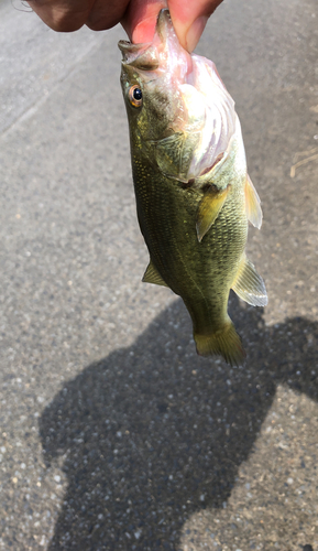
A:
<svg viewBox="0 0 318 551">
<path fill-rule="evenodd" d="M 199 204 L 197 215 L 197 236 L 201 241 L 211 225 L 216 222 L 229 193 L 229 186 L 219 192 L 211 187 L 205 193 L 202 201 Z"/>
</svg>

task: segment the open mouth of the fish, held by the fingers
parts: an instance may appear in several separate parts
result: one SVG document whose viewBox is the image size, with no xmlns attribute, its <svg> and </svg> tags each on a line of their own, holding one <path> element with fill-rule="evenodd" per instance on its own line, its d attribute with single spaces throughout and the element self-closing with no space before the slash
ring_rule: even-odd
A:
<svg viewBox="0 0 318 551">
<path fill-rule="evenodd" d="M 132 65 L 141 71 L 155 71 L 160 66 L 158 45 L 165 48 L 168 41 L 177 44 L 169 11 L 164 8 L 158 12 L 152 42 L 133 44 L 125 40 L 119 41 L 118 47 L 122 53 L 122 64 Z"/>
</svg>

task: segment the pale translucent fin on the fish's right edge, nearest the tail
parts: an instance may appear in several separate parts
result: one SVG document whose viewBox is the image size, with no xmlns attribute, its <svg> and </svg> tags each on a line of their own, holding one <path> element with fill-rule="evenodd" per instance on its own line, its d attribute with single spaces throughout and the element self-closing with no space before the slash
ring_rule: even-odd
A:
<svg viewBox="0 0 318 551">
<path fill-rule="evenodd" d="M 266 306 L 267 293 L 264 281 L 250 260 L 243 256 L 237 278 L 232 284 L 233 291 L 252 306 Z"/>
</svg>

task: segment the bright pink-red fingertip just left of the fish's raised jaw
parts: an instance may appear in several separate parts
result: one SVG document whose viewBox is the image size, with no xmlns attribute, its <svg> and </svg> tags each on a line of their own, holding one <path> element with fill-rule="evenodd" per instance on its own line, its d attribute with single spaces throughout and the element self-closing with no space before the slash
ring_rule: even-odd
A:
<svg viewBox="0 0 318 551">
<path fill-rule="evenodd" d="M 133 43 L 152 42 L 162 8 L 166 8 L 166 0 L 132 0 L 129 3 L 121 24 Z"/>
</svg>

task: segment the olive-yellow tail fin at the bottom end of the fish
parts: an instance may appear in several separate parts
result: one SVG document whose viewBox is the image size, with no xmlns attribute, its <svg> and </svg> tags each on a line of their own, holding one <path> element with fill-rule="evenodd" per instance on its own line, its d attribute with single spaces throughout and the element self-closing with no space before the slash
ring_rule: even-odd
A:
<svg viewBox="0 0 318 551">
<path fill-rule="evenodd" d="M 246 354 L 242 346 L 240 336 L 234 325 L 229 321 L 221 329 L 210 335 L 195 334 L 197 353 L 200 356 L 211 356 L 219 354 L 224 360 L 232 365 L 242 365 Z"/>
</svg>

